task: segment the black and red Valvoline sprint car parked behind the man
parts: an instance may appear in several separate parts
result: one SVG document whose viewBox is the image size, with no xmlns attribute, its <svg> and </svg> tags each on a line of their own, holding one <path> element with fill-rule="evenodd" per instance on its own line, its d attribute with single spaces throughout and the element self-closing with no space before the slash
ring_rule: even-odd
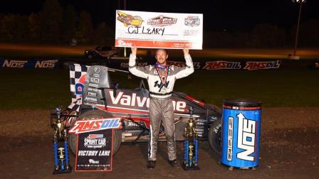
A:
<svg viewBox="0 0 319 179">
<path fill-rule="evenodd" d="M 99 70 L 97 70 L 99 69 Z M 113 155 L 119 150 L 121 142 L 149 141 L 149 91 L 145 82 L 140 81 L 136 89 L 121 89 L 113 85 L 107 67 L 91 66 L 85 74 L 82 104 L 78 117 L 67 119 L 68 126 L 76 120 L 101 119 L 111 116 L 122 118 L 122 129 L 113 131 Z M 98 74 L 97 71 L 104 71 Z M 95 77 L 99 77 L 96 80 Z M 95 86 L 96 88 L 94 88 Z M 75 87 L 79 87 L 75 84 Z M 80 89 L 82 90 L 82 89 Z M 92 94 L 94 92 L 94 94 Z M 94 98 L 94 99 L 93 99 Z M 184 128 L 189 119 L 189 107 L 193 107 L 195 131 L 199 140 L 208 140 L 216 153 L 221 150 L 221 112 L 212 104 L 195 99 L 183 92 L 173 92 L 174 124 L 176 141 L 184 140 Z M 75 114 L 70 112 L 69 114 Z M 161 127 L 159 141 L 165 141 L 164 129 Z M 77 137 L 69 134 L 70 151 L 76 152 Z"/>
</svg>

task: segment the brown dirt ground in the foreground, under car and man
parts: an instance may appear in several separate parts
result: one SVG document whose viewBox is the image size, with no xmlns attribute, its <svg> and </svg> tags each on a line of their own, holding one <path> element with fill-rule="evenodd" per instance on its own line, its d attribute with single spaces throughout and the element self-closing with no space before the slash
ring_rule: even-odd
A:
<svg viewBox="0 0 319 179">
<path fill-rule="evenodd" d="M 207 141 L 199 143 L 201 170 L 184 171 L 167 163 L 160 143 L 157 166 L 146 168 L 147 143 L 122 143 L 113 171 L 52 175 L 53 144 L 45 110 L 0 111 L 0 178 L 318 178 L 319 107 L 265 108 L 261 119 L 260 166 L 228 170 L 218 164 Z M 182 142 L 177 142 L 179 162 Z M 74 157 L 70 157 L 74 166 Z"/>
</svg>

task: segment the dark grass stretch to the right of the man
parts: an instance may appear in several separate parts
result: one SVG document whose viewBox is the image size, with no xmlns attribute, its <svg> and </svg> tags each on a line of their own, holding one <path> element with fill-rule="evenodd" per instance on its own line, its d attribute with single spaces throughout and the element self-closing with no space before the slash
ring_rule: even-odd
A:
<svg viewBox="0 0 319 179">
<path fill-rule="evenodd" d="M 266 107 L 319 106 L 319 71 L 197 71 L 177 81 L 175 90 L 221 106 L 226 98 L 259 99 Z"/>
</svg>

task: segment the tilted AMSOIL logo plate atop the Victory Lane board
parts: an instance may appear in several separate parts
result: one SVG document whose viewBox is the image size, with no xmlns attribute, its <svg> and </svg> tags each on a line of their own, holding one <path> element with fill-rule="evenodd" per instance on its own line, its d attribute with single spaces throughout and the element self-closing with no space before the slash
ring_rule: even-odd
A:
<svg viewBox="0 0 319 179">
<path fill-rule="evenodd" d="M 104 129 L 118 129 L 120 128 L 120 125 L 120 118 L 79 120 L 75 121 L 75 124 L 69 130 L 69 133 L 80 134 Z"/>
</svg>

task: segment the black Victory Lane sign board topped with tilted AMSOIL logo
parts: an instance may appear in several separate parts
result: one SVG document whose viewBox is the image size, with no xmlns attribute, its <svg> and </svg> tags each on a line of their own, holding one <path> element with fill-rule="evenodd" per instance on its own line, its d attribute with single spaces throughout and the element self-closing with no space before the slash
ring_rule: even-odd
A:
<svg viewBox="0 0 319 179">
<path fill-rule="evenodd" d="M 120 118 L 85 119 L 69 130 L 78 135 L 75 171 L 111 171 L 113 129 L 120 128 Z"/>
</svg>

